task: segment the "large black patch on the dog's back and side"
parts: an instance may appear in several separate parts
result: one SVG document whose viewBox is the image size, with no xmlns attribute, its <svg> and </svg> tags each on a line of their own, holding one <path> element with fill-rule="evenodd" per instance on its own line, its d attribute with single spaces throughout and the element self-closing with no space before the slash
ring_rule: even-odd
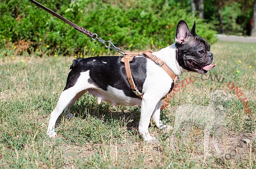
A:
<svg viewBox="0 0 256 169">
<path fill-rule="evenodd" d="M 76 84 L 81 72 L 90 70 L 89 83 L 96 85 L 102 90 L 107 90 L 107 87 L 111 86 L 122 90 L 127 96 L 138 98 L 128 83 L 124 64 L 120 63 L 120 61 L 121 57 L 119 56 L 78 58 L 74 60 L 70 66 L 72 70 L 68 75 L 64 90 Z M 135 85 L 142 92 L 146 79 L 146 58 L 135 57 L 133 62 L 130 63 L 130 67 Z"/>
</svg>

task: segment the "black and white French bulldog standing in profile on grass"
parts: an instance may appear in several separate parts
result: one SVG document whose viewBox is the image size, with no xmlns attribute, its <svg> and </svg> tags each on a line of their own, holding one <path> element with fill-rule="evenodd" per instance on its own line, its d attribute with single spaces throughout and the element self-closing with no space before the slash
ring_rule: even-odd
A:
<svg viewBox="0 0 256 169">
<path fill-rule="evenodd" d="M 191 32 L 184 20 L 180 20 L 176 29 L 175 42 L 172 45 L 154 52 L 153 55 L 162 59 L 177 76 L 183 71 L 207 73 L 215 65 L 210 53 L 210 45 L 205 39 L 199 37 L 194 23 Z M 139 133 L 147 142 L 156 141 L 148 133 L 150 119 L 156 126 L 165 129 L 160 120 L 160 107 L 162 98 L 174 86 L 174 81 L 167 73 L 152 60 L 143 56 L 135 57 L 130 63 L 134 82 L 143 98 L 131 90 L 125 73 L 121 57 L 91 57 L 78 58 L 73 61 L 68 75 L 67 84 L 60 94 L 56 108 L 52 111 L 47 134 L 55 137 L 55 123 L 63 110 L 70 113 L 70 107 L 87 91 L 98 97 L 98 104 L 106 101 L 113 105 L 141 106 Z"/>
</svg>

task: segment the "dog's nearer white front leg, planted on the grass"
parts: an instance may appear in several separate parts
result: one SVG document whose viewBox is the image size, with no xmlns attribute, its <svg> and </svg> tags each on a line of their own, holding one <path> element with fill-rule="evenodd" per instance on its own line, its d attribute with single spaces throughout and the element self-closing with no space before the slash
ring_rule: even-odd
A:
<svg viewBox="0 0 256 169">
<path fill-rule="evenodd" d="M 139 133 L 146 142 L 157 141 L 157 139 L 152 137 L 148 132 L 148 126 L 150 125 L 151 115 L 153 114 L 158 102 L 158 100 L 150 95 L 143 95 L 140 112 Z"/>
</svg>

